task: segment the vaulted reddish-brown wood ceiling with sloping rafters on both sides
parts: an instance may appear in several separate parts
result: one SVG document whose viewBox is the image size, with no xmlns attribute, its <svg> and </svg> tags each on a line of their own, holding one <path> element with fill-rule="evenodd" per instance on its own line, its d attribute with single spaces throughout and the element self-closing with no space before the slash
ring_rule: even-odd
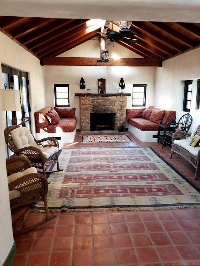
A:
<svg viewBox="0 0 200 266">
<path fill-rule="evenodd" d="M 100 38 L 105 20 L 0 17 L 0 31 L 38 59 L 59 56 L 92 39 Z M 108 30 L 117 30 L 108 23 Z M 200 23 L 139 22 L 130 28 L 137 43 L 116 42 L 146 59 L 164 61 L 200 47 Z M 109 46 L 108 46 L 109 47 Z M 108 48 L 107 47 L 107 48 Z"/>
</svg>

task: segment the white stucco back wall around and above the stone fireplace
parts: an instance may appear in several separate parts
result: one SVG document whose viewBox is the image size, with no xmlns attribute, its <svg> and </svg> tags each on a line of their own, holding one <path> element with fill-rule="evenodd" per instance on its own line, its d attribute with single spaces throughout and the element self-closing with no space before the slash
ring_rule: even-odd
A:
<svg viewBox="0 0 200 266">
<path fill-rule="evenodd" d="M 126 48 L 114 43 L 108 46 L 111 58 L 142 58 Z M 68 57 L 100 57 L 100 44 L 98 40 L 86 43 L 63 53 Z M 79 97 L 75 93 L 86 93 L 87 88 L 91 93 L 98 93 L 98 79 L 106 79 L 106 93 L 117 93 L 119 81 L 123 78 L 125 89 L 123 93 L 131 93 L 133 84 L 147 84 L 146 106 L 154 104 L 154 85 L 156 67 L 128 67 L 128 66 L 45 66 L 45 87 L 47 106 L 54 106 L 54 83 L 69 84 L 70 107 L 76 107 L 77 128 L 80 128 Z M 86 89 L 79 88 L 80 79 L 83 77 Z M 127 108 L 132 107 L 132 95 L 128 96 Z"/>
</svg>

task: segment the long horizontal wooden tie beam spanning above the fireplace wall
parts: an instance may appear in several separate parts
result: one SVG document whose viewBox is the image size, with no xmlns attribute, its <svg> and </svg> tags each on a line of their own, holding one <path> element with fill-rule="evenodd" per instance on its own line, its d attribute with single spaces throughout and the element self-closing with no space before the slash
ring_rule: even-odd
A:
<svg viewBox="0 0 200 266">
<path fill-rule="evenodd" d="M 99 58 L 92 57 L 43 57 L 42 65 L 85 65 L 85 66 L 160 66 L 159 59 L 150 58 L 109 58 L 108 63 L 97 62 Z"/>
</svg>

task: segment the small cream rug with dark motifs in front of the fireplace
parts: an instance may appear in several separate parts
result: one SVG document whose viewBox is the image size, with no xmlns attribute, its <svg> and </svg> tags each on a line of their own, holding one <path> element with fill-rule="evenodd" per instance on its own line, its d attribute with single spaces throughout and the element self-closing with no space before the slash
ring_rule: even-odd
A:
<svg viewBox="0 0 200 266">
<path fill-rule="evenodd" d="M 82 135 L 81 143 L 133 142 L 127 135 Z"/>
</svg>

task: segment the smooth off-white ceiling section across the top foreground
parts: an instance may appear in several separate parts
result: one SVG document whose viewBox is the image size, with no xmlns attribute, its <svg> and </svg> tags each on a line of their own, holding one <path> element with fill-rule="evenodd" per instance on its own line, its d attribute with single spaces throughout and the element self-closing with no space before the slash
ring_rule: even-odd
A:
<svg viewBox="0 0 200 266">
<path fill-rule="evenodd" d="M 200 23 L 200 0 L 0 0 L 0 16 Z"/>
</svg>

